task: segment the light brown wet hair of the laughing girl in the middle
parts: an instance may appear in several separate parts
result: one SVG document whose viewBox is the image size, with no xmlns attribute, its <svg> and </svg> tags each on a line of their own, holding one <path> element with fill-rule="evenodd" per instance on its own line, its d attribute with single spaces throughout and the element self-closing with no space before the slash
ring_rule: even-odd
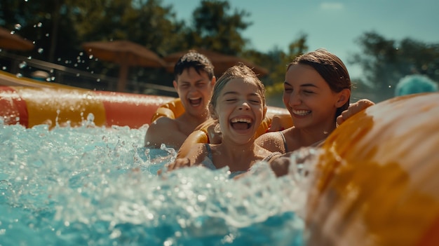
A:
<svg viewBox="0 0 439 246">
<path fill-rule="evenodd" d="M 265 86 L 264 84 L 257 78 L 255 72 L 250 69 L 250 67 L 245 66 L 244 64 L 239 64 L 234 67 L 230 67 L 227 71 L 224 71 L 221 77 L 218 78 L 217 83 L 213 87 L 212 99 L 209 102 L 209 106 L 212 109 L 215 109 L 217 106 L 217 100 L 219 97 L 219 93 L 234 78 L 243 78 L 244 81 L 254 82 L 258 89 L 259 93 L 261 93 L 262 105 L 265 106 Z"/>
</svg>

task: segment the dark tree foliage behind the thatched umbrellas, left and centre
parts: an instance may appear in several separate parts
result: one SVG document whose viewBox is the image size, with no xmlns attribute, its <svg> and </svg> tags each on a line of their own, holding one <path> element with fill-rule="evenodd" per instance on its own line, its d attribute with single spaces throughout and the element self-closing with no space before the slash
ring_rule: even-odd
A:
<svg viewBox="0 0 439 246">
<path fill-rule="evenodd" d="M 194 9 L 191 22 L 177 20 L 173 6 L 161 0 L 53 0 L 0 2 L 0 24 L 34 41 L 37 49 L 27 55 L 67 67 L 117 76 L 118 65 L 90 60 L 82 43 L 126 39 L 164 57 L 189 48 L 205 48 L 244 57 L 269 69 L 262 78 L 267 86 L 283 82 L 285 66 L 292 57 L 306 50 L 306 36 L 293 41 L 285 53 L 273 48 L 269 53 L 248 50 L 250 42 L 242 36 L 251 22 L 250 13 L 232 9 L 229 1 L 203 0 Z M 130 79 L 151 81 L 151 72 L 130 68 Z M 158 71 L 159 81 L 168 79 Z M 149 74 L 149 75 L 148 75 Z M 167 83 L 166 85 L 170 85 Z"/>
</svg>

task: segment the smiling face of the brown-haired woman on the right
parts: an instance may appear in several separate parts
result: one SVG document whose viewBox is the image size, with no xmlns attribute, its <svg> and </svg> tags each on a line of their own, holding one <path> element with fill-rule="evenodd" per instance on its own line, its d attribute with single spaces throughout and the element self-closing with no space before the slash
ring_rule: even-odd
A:
<svg viewBox="0 0 439 246">
<path fill-rule="evenodd" d="M 341 97 L 311 66 L 295 64 L 285 74 L 283 103 L 296 128 L 334 128 L 335 111 L 346 102 Z"/>
</svg>

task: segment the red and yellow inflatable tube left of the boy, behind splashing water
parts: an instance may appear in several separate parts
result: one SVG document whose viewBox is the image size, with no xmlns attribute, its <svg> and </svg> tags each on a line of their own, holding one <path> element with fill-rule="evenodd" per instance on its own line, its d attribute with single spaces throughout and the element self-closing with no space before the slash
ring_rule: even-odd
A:
<svg viewBox="0 0 439 246">
<path fill-rule="evenodd" d="M 162 104 L 175 97 L 83 90 L 0 86 L 0 116 L 4 123 L 34 125 L 81 125 L 93 114 L 97 126 L 140 128 Z"/>
</svg>

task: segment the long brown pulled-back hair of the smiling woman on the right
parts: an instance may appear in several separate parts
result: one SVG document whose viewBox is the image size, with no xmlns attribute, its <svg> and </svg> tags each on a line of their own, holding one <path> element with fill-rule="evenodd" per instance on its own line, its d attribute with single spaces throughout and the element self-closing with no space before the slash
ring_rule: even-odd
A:
<svg viewBox="0 0 439 246">
<path fill-rule="evenodd" d="M 346 66 L 337 55 L 323 48 L 299 55 L 288 64 L 287 70 L 295 64 L 305 64 L 313 67 L 335 93 L 339 93 L 344 89 L 351 90 L 351 78 L 349 77 L 348 69 L 346 69 Z M 351 97 L 342 107 L 337 109 L 335 118 L 342 114 L 342 111 L 348 109 L 350 100 Z"/>
</svg>

